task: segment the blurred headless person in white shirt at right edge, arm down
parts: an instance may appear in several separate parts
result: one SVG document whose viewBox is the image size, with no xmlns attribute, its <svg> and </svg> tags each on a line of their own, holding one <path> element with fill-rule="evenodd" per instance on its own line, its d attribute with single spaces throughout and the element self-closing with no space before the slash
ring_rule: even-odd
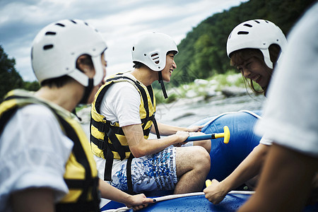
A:
<svg viewBox="0 0 318 212">
<path fill-rule="evenodd" d="M 317 13 L 316 3 L 288 37 L 288 47 L 269 88 L 264 118 L 256 126 L 258 133 L 273 140 L 273 146 L 256 193 L 239 211 L 302 211 L 314 177 L 317 180 Z"/>
</svg>

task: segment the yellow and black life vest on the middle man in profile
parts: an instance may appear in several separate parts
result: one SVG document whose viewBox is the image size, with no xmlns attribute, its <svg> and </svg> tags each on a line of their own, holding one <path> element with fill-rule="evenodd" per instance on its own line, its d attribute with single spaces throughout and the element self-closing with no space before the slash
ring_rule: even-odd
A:
<svg viewBox="0 0 318 212">
<path fill-rule="evenodd" d="M 90 119 L 90 145 L 95 155 L 106 159 L 105 180 L 107 181 L 111 180 L 113 159 L 124 160 L 133 157 L 126 137 L 124 136 L 124 132 L 122 131 L 122 128 L 119 127 L 119 123 L 112 123 L 107 120 L 107 117 L 100 114 L 100 105 L 106 91 L 112 84 L 119 82 L 129 82 L 139 91 L 141 96 L 139 112 L 144 138 L 148 139 L 152 124 L 155 126 L 157 137 L 160 138 L 158 127 L 155 122 L 155 98 L 153 95 L 153 88 L 151 86 L 146 87 L 143 83 L 136 81 L 123 73 L 117 73 L 116 75 L 107 78 L 106 83 L 95 95 Z"/>
</svg>

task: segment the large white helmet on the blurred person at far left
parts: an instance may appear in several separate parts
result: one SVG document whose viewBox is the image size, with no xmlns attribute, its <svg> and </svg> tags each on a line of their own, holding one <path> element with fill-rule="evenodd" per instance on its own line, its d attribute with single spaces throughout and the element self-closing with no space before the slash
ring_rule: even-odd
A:
<svg viewBox="0 0 318 212">
<path fill-rule="evenodd" d="M 92 57 L 95 68 L 93 86 L 104 77 L 100 55 L 107 45 L 98 30 L 83 20 L 60 20 L 43 28 L 33 40 L 31 60 L 38 81 L 68 75 L 88 86 L 88 76 L 76 69 L 82 54 Z"/>
</svg>

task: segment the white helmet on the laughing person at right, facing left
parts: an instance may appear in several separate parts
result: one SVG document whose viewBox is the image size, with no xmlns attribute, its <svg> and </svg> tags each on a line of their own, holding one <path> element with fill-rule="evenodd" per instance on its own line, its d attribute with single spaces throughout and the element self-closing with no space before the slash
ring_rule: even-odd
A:
<svg viewBox="0 0 318 212">
<path fill-rule="evenodd" d="M 259 49 L 264 56 L 264 61 L 270 69 L 273 63 L 269 57 L 269 46 L 279 45 L 281 52 L 285 50 L 287 40 L 277 25 L 269 20 L 247 20 L 237 25 L 228 36 L 226 51 L 228 57 L 232 52 L 239 49 Z"/>
</svg>

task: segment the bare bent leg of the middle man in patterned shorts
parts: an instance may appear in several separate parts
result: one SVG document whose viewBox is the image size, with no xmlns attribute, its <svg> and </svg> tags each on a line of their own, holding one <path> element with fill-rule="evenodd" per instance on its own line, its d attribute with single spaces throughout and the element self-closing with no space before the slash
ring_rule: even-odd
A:
<svg viewBox="0 0 318 212">
<path fill-rule="evenodd" d="M 210 171 L 210 155 L 201 146 L 176 148 L 178 182 L 175 194 L 200 192 Z"/>
</svg>

